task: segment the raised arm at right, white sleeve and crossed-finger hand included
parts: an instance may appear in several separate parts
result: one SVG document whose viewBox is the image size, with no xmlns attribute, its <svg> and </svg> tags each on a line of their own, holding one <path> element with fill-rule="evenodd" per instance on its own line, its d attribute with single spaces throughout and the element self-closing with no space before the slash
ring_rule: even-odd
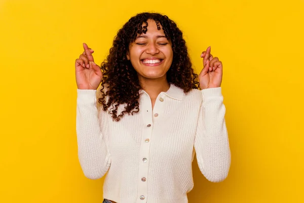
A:
<svg viewBox="0 0 304 203">
<path fill-rule="evenodd" d="M 204 68 L 199 81 L 203 99 L 194 145 L 201 172 L 209 181 L 220 182 L 228 175 L 231 151 L 220 87 L 223 66 L 210 52 L 211 47 L 208 47 L 201 55 Z"/>
</svg>

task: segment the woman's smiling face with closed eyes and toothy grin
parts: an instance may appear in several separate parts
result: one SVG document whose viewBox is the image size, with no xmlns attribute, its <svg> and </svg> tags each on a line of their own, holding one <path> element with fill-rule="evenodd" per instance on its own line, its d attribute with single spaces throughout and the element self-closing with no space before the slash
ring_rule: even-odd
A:
<svg viewBox="0 0 304 203">
<path fill-rule="evenodd" d="M 147 22 L 146 33 L 137 36 L 130 44 L 127 58 L 136 70 L 139 80 L 166 78 L 173 59 L 171 42 L 165 37 L 161 25 L 158 30 L 154 20 Z"/>
</svg>

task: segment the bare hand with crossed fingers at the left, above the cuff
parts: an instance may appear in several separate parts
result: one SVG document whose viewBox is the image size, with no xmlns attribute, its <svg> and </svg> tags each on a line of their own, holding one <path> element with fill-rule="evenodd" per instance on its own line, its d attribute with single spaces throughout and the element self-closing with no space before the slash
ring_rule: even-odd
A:
<svg viewBox="0 0 304 203">
<path fill-rule="evenodd" d="M 75 74 L 78 89 L 97 89 L 102 80 L 101 69 L 94 63 L 92 49 L 83 44 L 84 52 L 75 61 Z"/>
</svg>

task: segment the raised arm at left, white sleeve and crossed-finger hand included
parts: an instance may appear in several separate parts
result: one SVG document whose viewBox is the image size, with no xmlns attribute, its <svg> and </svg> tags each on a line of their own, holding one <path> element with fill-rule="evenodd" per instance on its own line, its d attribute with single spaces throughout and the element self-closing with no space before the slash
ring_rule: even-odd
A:
<svg viewBox="0 0 304 203">
<path fill-rule="evenodd" d="M 78 157 L 85 176 L 99 179 L 107 172 L 111 162 L 106 113 L 97 109 L 96 89 L 102 73 L 94 63 L 93 50 L 86 44 L 84 49 L 84 53 L 75 61 Z"/>
</svg>

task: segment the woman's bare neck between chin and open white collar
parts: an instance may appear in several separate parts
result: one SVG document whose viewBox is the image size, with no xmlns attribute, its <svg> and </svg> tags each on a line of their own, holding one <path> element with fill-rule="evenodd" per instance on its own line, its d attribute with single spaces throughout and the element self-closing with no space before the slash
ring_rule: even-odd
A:
<svg viewBox="0 0 304 203">
<path fill-rule="evenodd" d="M 140 77 L 139 82 L 142 89 L 149 94 L 151 99 L 156 99 L 161 92 L 166 92 L 170 88 L 166 75 L 157 79 Z"/>
</svg>

